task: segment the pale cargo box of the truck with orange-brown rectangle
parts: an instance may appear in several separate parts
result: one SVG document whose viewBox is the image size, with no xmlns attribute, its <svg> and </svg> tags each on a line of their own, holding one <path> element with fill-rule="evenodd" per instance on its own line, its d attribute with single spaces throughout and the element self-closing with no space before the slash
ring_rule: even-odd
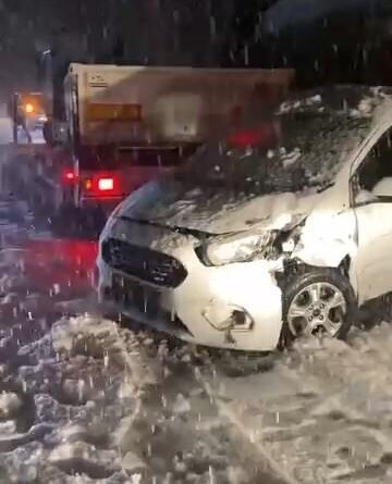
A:
<svg viewBox="0 0 392 484">
<path fill-rule="evenodd" d="M 83 144 L 160 145 L 203 141 L 257 89 L 272 86 L 284 96 L 293 78 L 291 70 L 71 64 L 64 86 L 68 102 L 77 86 Z M 132 107 L 140 107 L 140 119 L 130 119 Z"/>
</svg>

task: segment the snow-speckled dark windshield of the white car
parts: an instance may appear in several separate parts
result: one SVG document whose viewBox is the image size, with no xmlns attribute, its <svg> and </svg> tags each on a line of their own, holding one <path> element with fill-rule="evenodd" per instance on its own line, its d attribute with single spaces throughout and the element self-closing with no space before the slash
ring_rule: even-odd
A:
<svg viewBox="0 0 392 484">
<path fill-rule="evenodd" d="M 322 189 L 360 142 L 369 121 L 346 114 L 297 112 L 254 124 L 224 141 L 205 145 L 176 174 L 191 185 L 256 194 Z"/>
</svg>

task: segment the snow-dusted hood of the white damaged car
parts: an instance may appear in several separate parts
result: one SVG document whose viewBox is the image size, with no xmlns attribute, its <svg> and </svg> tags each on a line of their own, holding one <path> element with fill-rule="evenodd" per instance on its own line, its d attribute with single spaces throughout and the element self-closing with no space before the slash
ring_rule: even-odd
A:
<svg viewBox="0 0 392 484">
<path fill-rule="evenodd" d="M 320 194 L 306 190 L 266 196 L 228 189 L 186 189 L 175 181 L 151 182 L 130 196 L 118 218 L 207 234 L 229 234 L 253 227 L 281 229 L 305 219 Z"/>
</svg>

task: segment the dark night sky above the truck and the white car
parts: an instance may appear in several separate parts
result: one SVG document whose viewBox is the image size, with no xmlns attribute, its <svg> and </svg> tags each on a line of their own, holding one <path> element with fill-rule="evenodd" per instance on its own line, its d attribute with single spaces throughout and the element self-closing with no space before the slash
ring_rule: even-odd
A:
<svg viewBox="0 0 392 484">
<path fill-rule="evenodd" d="M 370 13 L 376 4 L 387 10 L 375 24 Z M 343 5 L 364 14 L 342 21 Z M 322 16 L 331 8 L 339 13 L 330 25 L 322 17 L 322 24 L 301 27 L 298 21 L 320 12 Z M 279 24 L 292 24 L 285 40 L 281 36 L 283 44 L 281 37 L 270 42 L 266 32 L 271 20 L 272 32 Z M 267 42 L 258 39 L 261 30 Z M 353 33 L 352 46 L 347 30 Z M 319 50 L 317 42 L 308 41 L 318 34 Z M 117 44 L 117 54 L 122 52 L 126 63 L 161 65 L 243 66 L 244 47 L 249 48 L 249 66 L 274 65 L 277 59 L 287 58 L 297 67 L 326 53 L 328 65 L 320 71 L 324 75 L 335 44 L 346 49 L 343 60 L 332 59 L 335 69 L 344 71 L 346 59 L 358 55 L 363 44 L 379 42 L 380 35 L 387 39 L 381 51 L 387 52 L 392 46 L 391 0 L 0 0 L 0 97 L 15 87 L 36 87 L 35 53 L 49 46 L 72 60 L 112 62 Z M 290 52 L 293 46 L 302 51 Z M 277 57 L 277 49 L 284 54 Z"/>
</svg>

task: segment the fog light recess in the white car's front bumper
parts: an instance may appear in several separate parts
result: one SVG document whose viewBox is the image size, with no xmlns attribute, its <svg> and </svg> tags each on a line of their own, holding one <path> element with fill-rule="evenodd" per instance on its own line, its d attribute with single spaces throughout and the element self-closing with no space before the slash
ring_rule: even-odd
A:
<svg viewBox="0 0 392 484">
<path fill-rule="evenodd" d="M 201 315 L 218 331 L 247 332 L 254 326 L 245 309 L 234 305 L 211 302 L 201 311 Z"/>
</svg>

